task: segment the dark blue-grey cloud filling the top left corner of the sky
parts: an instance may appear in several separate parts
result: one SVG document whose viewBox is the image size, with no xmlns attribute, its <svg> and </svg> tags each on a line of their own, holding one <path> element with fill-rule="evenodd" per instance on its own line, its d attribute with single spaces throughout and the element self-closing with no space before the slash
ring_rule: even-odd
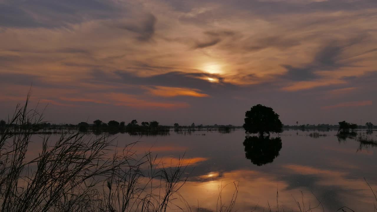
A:
<svg viewBox="0 0 377 212">
<path fill-rule="evenodd" d="M 88 19 L 106 19 L 120 14 L 120 7 L 102 0 L 5 0 L 0 6 L 0 26 L 53 28 Z"/>
</svg>

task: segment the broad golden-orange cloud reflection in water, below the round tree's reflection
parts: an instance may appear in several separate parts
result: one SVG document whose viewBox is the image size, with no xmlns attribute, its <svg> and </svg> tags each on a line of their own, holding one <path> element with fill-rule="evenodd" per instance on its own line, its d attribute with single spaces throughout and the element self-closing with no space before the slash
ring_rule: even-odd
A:
<svg viewBox="0 0 377 212">
<path fill-rule="evenodd" d="M 213 174 L 209 172 L 207 176 Z M 239 181 L 239 193 L 236 200 L 236 209 L 239 211 L 247 211 L 255 207 L 259 202 L 259 206 L 267 207 L 267 201 L 274 201 L 276 199 L 276 189 L 279 188 L 284 194 L 279 194 L 279 204 L 284 203 L 287 209 L 294 206 L 290 194 L 300 196 L 299 189 L 290 190 L 289 193 L 284 192 L 288 184 L 285 181 L 278 180 L 273 176 L 264 174 L 263 172 L 250 170 L 236 170 L 223 173 L 223 177 L 216 180 L 205 182 L 189 181 L 182 187 L 180 193 L 186 198 L 189 203 L 196 203 L 199 201 L 199 207 L 207 209 L 216 209 L 216 201 L 219 195 L 219 186 Z M 222 191 L 222 198 L 225 203 L 228 203 L 233 195 L 234 186 L 229 184 Z M 314 198 L 314 197 L 313 197 Z M 308 198 L 312 202 L 313 198 Z"/>
</svg>

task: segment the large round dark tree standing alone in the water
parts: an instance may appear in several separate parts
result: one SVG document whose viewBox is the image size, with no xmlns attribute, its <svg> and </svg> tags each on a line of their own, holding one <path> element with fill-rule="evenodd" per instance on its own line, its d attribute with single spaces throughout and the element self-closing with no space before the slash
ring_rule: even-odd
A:
<svg viewBox="0 0 377 212">
<path fill-rule="evenodd" d="M 247 133 L 259 133 L 260 136 L 263 136 L 264 133 L 282 131 L 283 124 L 279 115 L 272 108 L 262 104 L 257 104 L 250 111 L 246 111 L 245 117 L 243 127 Z"/>
</svg>

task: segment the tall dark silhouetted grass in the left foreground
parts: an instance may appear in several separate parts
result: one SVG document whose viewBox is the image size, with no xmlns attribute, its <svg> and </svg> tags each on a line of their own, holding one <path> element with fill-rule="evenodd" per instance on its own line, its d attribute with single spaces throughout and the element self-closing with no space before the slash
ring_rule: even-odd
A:
<svg viewBox="0 0 377 212">
<path fill-rule="evenodd" d="M 0 135 L 0 212 L 165 212 L 173 206 L 187 166 L 179 160 L 164 167 L 150 152 L 136 155 L 135 143 L 111 153 L 119 147 L 108 135 L 63 133 L 56 142 L 45 135 L 32 157 L 32 126 L 43 123 L 43 114 L 28 109 L 29 97 Z"/>
</svg>

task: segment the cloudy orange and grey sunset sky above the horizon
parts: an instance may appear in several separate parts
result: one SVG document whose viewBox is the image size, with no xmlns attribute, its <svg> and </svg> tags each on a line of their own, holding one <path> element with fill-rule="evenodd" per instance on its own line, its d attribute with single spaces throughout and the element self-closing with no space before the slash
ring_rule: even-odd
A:
<svg viewBox="0 0 377 212">
<path fill-rule="evenodd" d="M 375 0 L 0 0 L 0 119 L 377 124 Z"/>
</svg>

